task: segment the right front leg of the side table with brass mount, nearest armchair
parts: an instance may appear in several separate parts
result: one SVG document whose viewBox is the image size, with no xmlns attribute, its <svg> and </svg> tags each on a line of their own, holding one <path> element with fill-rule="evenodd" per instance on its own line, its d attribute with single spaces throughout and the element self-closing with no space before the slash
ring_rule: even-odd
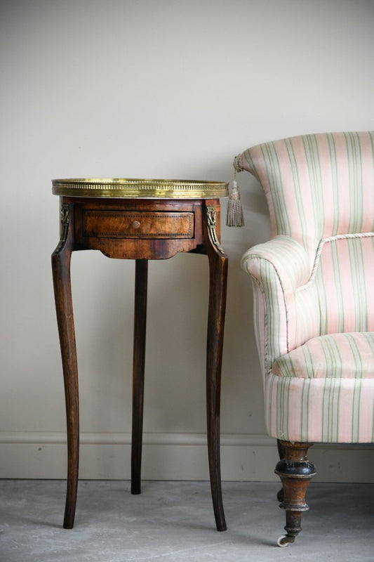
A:
<svg viewBox="0 0 374 562">
<path fill-rule="evenodd" d="M 208 240 L 206 240 L 205 246 L 209 259 L 209 311 L 206 356 L 208 459 L 215 524 L 218 531 L 225 531 L 227 525 L 222 503 L 220 470 L 220 391 L 228 258 L 218 241 L 215 230 L 215 209 L 213 207 L 206 207 L 206 220 Z"/>
</svg>

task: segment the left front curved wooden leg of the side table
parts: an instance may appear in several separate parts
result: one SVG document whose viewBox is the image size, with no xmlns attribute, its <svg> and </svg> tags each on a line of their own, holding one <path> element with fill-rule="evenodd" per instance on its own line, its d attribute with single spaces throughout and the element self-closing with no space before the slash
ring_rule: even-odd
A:
<svg viewBox="0 0 374 562">
<path fill-rule="evenodd" d="M 74 525 L 79 470 L 79 393 L 70 281 L 72 255 L 72 228 L 69 231 L 70 210 L 69 205 L 62 205 L 60 242 L 52 254 L 53 286 L 60 335 L 67 418 L 67 493 L 63 523 L 65 529 L 72 529 Z"/>
</svg>

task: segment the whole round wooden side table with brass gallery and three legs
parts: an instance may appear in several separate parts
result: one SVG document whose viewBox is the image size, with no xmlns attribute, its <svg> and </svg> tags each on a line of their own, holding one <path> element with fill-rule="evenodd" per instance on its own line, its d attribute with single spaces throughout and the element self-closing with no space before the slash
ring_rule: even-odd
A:
<svg viewBox="0 0 374 562">
<path fill-rule="evenodd" d="M 79 392 L 70 259 L 95 249 L 135 260 L 131 492 L 140 493 L 148 260 L 179 252 L 206 254 L 209 305 L 206 352 L 208 462 L 215 523 L 226 530 L 220 478 L 220 379 L 227 255 L 220 245 L 220 197 L 227 183 L 84 178 L 53 180 L 60 196 L 60 241 L 52 254 L 67 414 L 67 496 L 64 528 L 74 525 L 79 473 Z"/>
</svg>

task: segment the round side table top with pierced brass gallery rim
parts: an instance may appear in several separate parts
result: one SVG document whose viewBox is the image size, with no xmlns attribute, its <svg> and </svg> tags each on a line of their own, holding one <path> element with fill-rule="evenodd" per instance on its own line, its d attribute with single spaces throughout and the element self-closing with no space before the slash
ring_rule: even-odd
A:
<svg viewBox="0 0 374 562">
<path fill-rule="evenodd" d="M 142 197 L 160 199 L 217 199 L 229 195 L 220 181 L 79 178 L 52 181 L 53 195 L 63 197 Z"/>
</svg>

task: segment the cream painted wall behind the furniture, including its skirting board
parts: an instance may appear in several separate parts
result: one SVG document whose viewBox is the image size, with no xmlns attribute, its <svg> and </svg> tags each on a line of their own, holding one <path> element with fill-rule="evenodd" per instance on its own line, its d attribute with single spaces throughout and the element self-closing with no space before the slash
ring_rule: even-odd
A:
<svg viewBox="0 0 374 562">
<path fill-rule="evenodd" d="M 370 0 L 2 2 L 0 476 L 65 476 L 51 178 L 229 181 L 234 155 L 249 145 L 373 129 L 373 25 Z M 240 181 L 246 226 L 222 225 L 230 260 L 222 477 L 267 480 L 276 451 L 239 260 L 267 239 L 269 224 L 257 183 Z M 81 476 L 128 478 L 133 263 L 81 252 L 72 272 Z M 207 477 L 207 273 L 203 256 L 149 266 L 146 478 Z M 359 467 L 369 457 L 314 454 L 325 480 L 372 478 Z"/>
</svg>

